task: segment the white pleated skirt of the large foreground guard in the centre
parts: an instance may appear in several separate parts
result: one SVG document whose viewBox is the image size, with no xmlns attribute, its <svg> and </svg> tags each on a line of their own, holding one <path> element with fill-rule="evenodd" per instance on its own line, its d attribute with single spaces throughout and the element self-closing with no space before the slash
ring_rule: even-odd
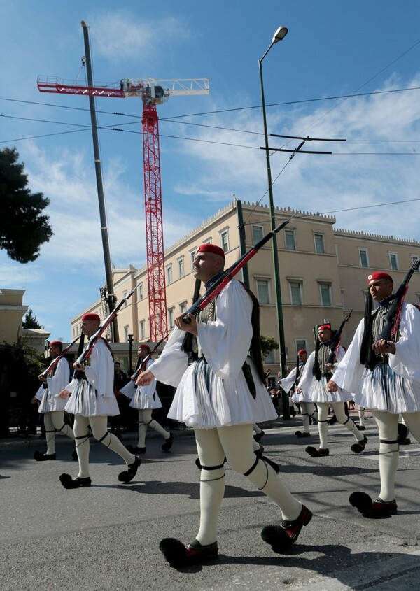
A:
<svg viewBox="0 0 420 591">
<path fill-rule="evenodd" d="M 190 365 L 176 389 L 168 417 L 196 429 L 214 429 L 228 425 L 265 422 L 277 418 L 267 388 L 262 384 L 252 362 L 256 388 L 255 399 L 243 372 L 223 380 L 203 359 Z"/>
</svg>

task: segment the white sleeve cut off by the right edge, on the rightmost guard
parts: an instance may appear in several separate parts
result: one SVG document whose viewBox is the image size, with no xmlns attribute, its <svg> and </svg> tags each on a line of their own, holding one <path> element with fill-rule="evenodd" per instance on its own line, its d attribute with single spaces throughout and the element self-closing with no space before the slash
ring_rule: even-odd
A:
<svg viewBox="0 0 420 591">
<path fill-rule="evenodd" d="M 420 311 L 411 304 L 402 304 L 400 338 L 389 366 L 402 378 L 420 380 Z"/>
</svg>

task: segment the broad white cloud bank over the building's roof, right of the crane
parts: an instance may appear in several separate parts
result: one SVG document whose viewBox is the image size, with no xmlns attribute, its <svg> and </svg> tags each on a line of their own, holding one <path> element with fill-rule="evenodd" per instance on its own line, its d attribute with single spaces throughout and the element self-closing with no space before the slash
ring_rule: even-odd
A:
<svg viewBox="0 0 420 591">
<path fill-rule="evenodd" d="M 379 90 L 419 87 L 420 79 L 408 82 L 391 78 Z M 328 212 L 346 208 L 377 205 L 372 210 L 360 209 L 337 213 L 337 227 L 363 230 L 376 234 L 420 238 L 417 217 L 419 205 L 380 207 L 394 201 L 418 196 L 420 171 L 416 143 L 420 131 L 419 92 L 393 92 L 342 101 L 332 108 L 330 101 L 311 107 L 270 108 L 269 129 L 273 133 L 323 138 L 346 138 L 343 143 L 307 142 L 303 150 L 332 150 L 334 155 L 295 155 L 275 152 L 271 157 L 274 201 L 302 211 Z M 308 108 L 311 111 L 308 112 Z M 207 122 L 220 127 L 261 129 L 260 113 L 214 115 Z M 197 174 L 182 178 L 176 188 L 183 194 L 194 194 L 197 187 L 209 201 L 228 201 L 235 192 L 248 201 L 258 201 L 267 191 L 265 152 L 246 150 L 232 145 L 205 143 L 213 140 L 230 144 L 263 145 L 263 136 L 244 136 L 221 129 L 196 128 L 202 143 L 186 142 L 183 150 L 191 159 L 190 171 Z M 188 129 L 188 135 L 191 135 Z M 386 140 L 374 142 L 373 140 Z M 350 140 L 368 140 L 364 142 Z M 274 147 L 296 148 L 298 140 L 269 138 Z M 344 155 L 346 152 L 346 155 Z M 361 153 L 363 152 L 363 153 Z M 373 152 L 373 153 L 372 153 Z M 381 155 L 386 152 L 391 155 Z M 403 155 L 409 152 L 412 155 Z M 198 161 L 198 166 L 197 166 Z M 262 199 L 267 204 L 267 195 Z"/>
</svg>

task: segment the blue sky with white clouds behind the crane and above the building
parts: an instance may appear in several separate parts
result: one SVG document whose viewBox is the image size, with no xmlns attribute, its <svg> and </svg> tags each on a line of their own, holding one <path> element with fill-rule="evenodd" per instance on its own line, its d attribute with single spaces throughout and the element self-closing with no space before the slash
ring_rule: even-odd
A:
<svg viewBox="0 0 420 591">
<path fill-rule="evenodd" d="M 274 153 L 275 204 L 334 213 L 337 228 L 420 240 L 418 0 L 1 0 L 0 7 L 0 148 L 17 148 L 29 187 L 50 199 L 55 233 L 36 262 L 0 252 L 0 288 L 25 289 L 24 303 L 53 339 L 70 339 L 69 319 L 97 299 L 105 280 L 88 99 L 36 87 L 37 76 L 85 83 L 82 20 L 98 83 L 210 79 L 208 97 L 158 106 L 165 246 L 234 194 L 267 204 L 258 59 L 280 25 L 288 35 L 263 62 L 269 133 L 347 141 L 322 145 L 330 156 L 289 161 Z M 141 102 L 102 98 L 96 106 L 99 126 L 125 129 L 100 131 L 112 262 L 141 266 Z"/>
</svg>

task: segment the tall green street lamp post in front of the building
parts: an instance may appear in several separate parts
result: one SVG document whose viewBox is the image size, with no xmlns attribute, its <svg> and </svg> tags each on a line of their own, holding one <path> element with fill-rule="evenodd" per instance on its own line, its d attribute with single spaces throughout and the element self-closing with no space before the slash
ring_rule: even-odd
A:
<svg viewBox="0 0 420 591">
<path fill-rule="evenodd" d="M 279 27 L 274 33 L 272 43 L 265 54 L 258 60 L 258 66 L 260 69 L 260 84 L 261 84 L 261 104 L 262 104 L 262 119 L 264 121 L 264 137 L 265 137 L 265 159 L 267 162 L 267 180 L 268 180 L 268 196 L 269 196 L 269 215 L 271 220 L 271 229 L 276 228 L 276 215 L 274 209 L 273 199 L 273 187 L 272 187 L 272 174 L 271 166 L 269 162 L 269 148 L 268 148 L 268 131 L 267 131 L 267 115 L 265 113 L 265 97 L 264 97 L 264 83 L 262 81 L 262 60 L 265 58 L 269 50 L 272 48 L 274 43 L 278 43 L 286 37 L 288 32 L 287 27 Z M 281 305 L 281 285 L 280 285 L 280 271 L 279 271 L 279 253 L 277 252 L 277 237 L 274 233 L 272 238 L 273 246 L 273 266 L 274 266 L 274 287 L 275 287 L 275 298 L 276 298 L 276 314 L 277 314 L 277 326 L 279 332 L 279 346 L 280 346 L 280 363 L 281 363 L 281 376 L 286 377 L 286 343 L 284 340 L 284 324 L 283 324 L 283 308 Z M 288 404 L 284 408 L 283 413 L 288 415 L 290 418 L 290 412 Z M 285 417 L 286 418 L 286 417 Z"/>
</svg>

